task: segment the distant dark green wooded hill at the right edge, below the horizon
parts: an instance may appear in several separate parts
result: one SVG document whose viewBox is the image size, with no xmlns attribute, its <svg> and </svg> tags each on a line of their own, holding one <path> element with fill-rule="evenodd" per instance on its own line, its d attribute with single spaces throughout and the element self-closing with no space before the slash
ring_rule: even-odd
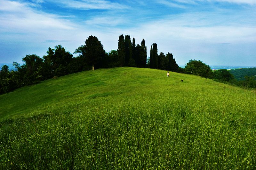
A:
<svg viewBox="0 0 256 170">
<path fill-rule="evenodd" d="M 233 74 L 236 80 L 244 80 L 245 76 L 256 76 L 256 68 L 238 68 L 229 70 Z"/>
</svg>

